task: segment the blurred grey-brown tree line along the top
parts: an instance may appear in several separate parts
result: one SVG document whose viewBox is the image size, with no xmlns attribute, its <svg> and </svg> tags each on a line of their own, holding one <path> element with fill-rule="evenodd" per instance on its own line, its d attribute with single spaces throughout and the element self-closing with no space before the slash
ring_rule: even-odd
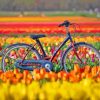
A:
<svg viewBox="0 0 100 100">
<path fill-rule="evenodd" d="M 0 0 L 0 11 L 100 10 L 100 0 Z"/>
</svg>

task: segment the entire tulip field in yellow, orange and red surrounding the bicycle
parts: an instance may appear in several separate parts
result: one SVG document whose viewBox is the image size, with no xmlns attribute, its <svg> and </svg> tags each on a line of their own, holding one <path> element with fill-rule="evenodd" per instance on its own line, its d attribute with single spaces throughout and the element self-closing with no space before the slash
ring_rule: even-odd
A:
<svg viewBox="0 0 100 100">
<path fill-rule="evenodd" d="M 30 38 L 30 34 L 46 34 L 40 41 L 47 55 L 52 56 L 66 37 L 66 29 L 58 27 L 66 19 L 76 25 L 76 28 L 70 27 L 75 42 L 92 44 L 100 52 L 100 19 L 79 16 L 1 17 L 0 51 L 15 43 L 34 45 L 35 41 Z M 67 46 L 62 49 L 65 50 Z M 70 72 L 59 71 L 58 64 L 54 64 L 53 71 L 50 72 L 45 68 L 33 71 L 15 68 L 3 72 L 1 61 L 2 55 L 0 100 L 100 100 L 100 73 L 97 73 L 100 72 L 100 65 L 81 68 L 75 64 Z"/>
</svg>

